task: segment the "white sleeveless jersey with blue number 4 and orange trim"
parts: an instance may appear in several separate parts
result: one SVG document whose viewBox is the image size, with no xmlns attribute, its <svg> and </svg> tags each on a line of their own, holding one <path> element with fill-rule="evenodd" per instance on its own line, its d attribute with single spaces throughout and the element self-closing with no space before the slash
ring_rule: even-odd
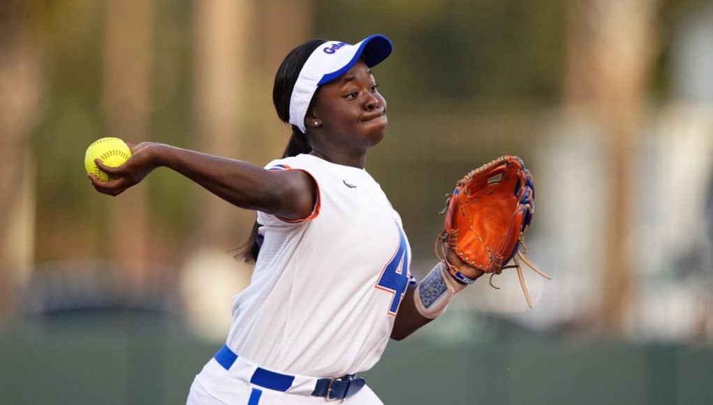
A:
<svg viewBox="0 0 713 405">
<path fill-rule="evenodd" d="M 415 283 L 401 217 L 366 170 L 304 154 L 265 168 L 309 173 L 317 202 L 305 220 L 257 212 L 262 247 L 250 286 L 235 297 L 227 346 L 288 374 L 370 369 Z"/>
</svg>

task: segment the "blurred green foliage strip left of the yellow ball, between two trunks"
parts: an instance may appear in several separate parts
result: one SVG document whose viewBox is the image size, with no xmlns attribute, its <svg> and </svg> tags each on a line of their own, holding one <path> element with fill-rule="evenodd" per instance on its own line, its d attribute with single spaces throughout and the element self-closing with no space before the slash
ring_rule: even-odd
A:
<svg viewBox="0 0 713 405">
<path fill-rule="evenodd" d="M 37 262 L 96 257 L 104 252 L 106 202 L 84 177 L 86 146 L 101 136 L 101 11 L 103 2 L 25 2 L 46 49 L 47 91 L 31 136 L 36 163 Z"/>
</svg>

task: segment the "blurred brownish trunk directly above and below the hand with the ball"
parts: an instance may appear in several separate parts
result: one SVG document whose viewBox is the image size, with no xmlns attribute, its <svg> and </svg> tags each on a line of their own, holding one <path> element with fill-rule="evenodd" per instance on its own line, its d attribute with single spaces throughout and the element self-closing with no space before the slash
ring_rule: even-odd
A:
<svg viewBox="0 0 713 405">
<path fill-rule="evenodd" d="M 148 135 L 153 66 L 153 1 L 106 0 L 104 8 L 103 113 L 106 133 L 129 142 Z M 124 193 L 110 206 L 111 259 L 128 271 L 133 289 L 148 277 L 146 188 Z"/>
</svg>

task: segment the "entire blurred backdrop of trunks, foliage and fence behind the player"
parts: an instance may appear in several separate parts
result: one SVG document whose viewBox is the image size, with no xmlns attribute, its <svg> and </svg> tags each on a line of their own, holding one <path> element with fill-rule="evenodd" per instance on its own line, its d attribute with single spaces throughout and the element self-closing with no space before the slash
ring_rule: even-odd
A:
<svg viewBox="0 0 713 405">
<path fill-rule="evenodd" d="M 263 165 L 275 70 L 313 37 L 394 41 L 367 170 L 417 278 L 442 197 L 499 155 L 535 178 L 553 275 L 476 284 L 391 342 L 386 404 L 702 404 L 713 375 L 713 1 L 9 0 L 0 4 L 0 404 L 175 404 L 225 339 L 254 212 L 168 170 L 95 193 L 86 146 Z"/>
</svg>

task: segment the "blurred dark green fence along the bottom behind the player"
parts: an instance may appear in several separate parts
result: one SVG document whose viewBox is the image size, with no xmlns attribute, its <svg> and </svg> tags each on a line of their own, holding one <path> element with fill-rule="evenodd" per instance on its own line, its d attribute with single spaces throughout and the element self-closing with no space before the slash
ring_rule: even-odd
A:
<svg viewBox="0 0 713 405">
<path fill-rule="evenodd" d="M 219 346 L 158 317 L 24 325 L 0 334 L 0 404 L 183 404 Z M 713 349 L 416 336 L 364 375 L 385 404 L 710 404 Z"/>
</svg>

